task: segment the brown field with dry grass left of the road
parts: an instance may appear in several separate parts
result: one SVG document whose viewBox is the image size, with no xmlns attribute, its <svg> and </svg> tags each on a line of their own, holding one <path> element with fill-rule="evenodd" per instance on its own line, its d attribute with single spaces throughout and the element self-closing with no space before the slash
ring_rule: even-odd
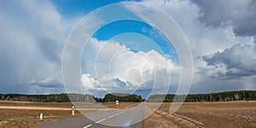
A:
<svg viewBox="0 0 256 128">
<path fill-rule="evenodd" d="M 39 119 L 40 113 L 44 113 L 44 120 Z M 75 116 L 81 115 L 79 112 L 76 113 Z M 68 117 L 72 117 L 70 111 L 0 109 L 0 127 L 34 127 L 35 125 Z"/>
</svg>

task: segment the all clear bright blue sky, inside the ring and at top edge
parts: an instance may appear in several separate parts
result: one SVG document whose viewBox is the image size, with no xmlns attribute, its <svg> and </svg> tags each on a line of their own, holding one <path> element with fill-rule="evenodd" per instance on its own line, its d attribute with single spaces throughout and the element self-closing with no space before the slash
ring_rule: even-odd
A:
<svg viewBox="0 0 256 128">
<path fill-rule="evenodd" d="M 93 0 L 76 1 L 76 2 L 73 2 L 72 0 L 67 0 L 67 1 L 52 1 L 52 2 L 55 4 L 56 9 L 59 10 L 61 15 L 64 15 L 66 17 L 74 17 L 76 15 L 86 15 L 88 13 L 91 13 L 93 10 L 99 9 L 108 4 L 121 3 L 125 1 L 101 0 L 96 3 Z M 134 20 L 117 21 L 117 22 L 108 24 L 108 26 L 102 27 L 98 32 L 95 33 L 93 37 L 99 40 L 109 40 L 110 38 L 113 38 L 114 36 L 121 33 L 125 33 L 125 32 L 135 32 L 135 33 L 143 34 L 148 38 L 153 39 L 154 42 L 157 43 L 160 49 L 162 50 L 160 54 L 170 55 L 172 60 L 178 63 L 177 53 L 174 47 L 172 46 L 172 43 L 169 43 L 167 39 L 160 32 L 156 31 L 156 29 L 153 29 L 152 26 L 148 25 L 145 22 L 139 22 Z M 149 32 L 154 33 L 154 35 L 152 34 L 150 35 Z M 129 47 L 130 48 L 132 47 L 131 44 Z"/>
</svg>

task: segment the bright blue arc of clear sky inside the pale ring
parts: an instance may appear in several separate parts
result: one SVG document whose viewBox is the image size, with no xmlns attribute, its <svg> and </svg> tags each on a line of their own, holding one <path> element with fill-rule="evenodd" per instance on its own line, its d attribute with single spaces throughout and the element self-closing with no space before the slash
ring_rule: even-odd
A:
<svg viewBox="0 0 256 128">
<path fill-rule="evenodd" d="M 142 34 L 154 41 L 155 44 L 160 47 L 161 51 L 159 51 L 162 55 L 170 55 L 172 58 L 172 61 L 175 61 L 178 63 L 177 53 L 174 49 L 171 42 L 169 42 L 164 35 L 162 35 L 160 32 L 156 31 L 155 28 L 152 26 L 140 22 L 140 21 L 134 21 L 134 20 L 122 20 L 113 22 L 111 24 L 108 24 L 108 26 L 103 26 L 98 32 L 96 32 L 93 37 L 97 38 L 99 40 L 109 40 L 113 38 L 114 36 L 117 36 L 122 33 L 126 32 L 133 32 L 137 34 Z M 125 39 L 125 37 L 124 37 Z M 125 44 L 128 48 L 132 49 L 137 46 L 137 44 L 134 44 L 134 46 L 129 43 L 130 38 L 126 38 L 126 42 L 119 42 L 120 44 Z M 136 40 L 134 38 L 134 40 Z M 118 41 L 118 40 L 117 40 Z M 137 40 L 139 42 L 139 40 Z M 142 42 L 141 42 L 142 43 Z M 147 43 L 142 43 L 142 50 L 144 52 L 147 52 L 150 49 L 147 49 L 147 47 L 152 48 L 152 45 L 147 45 Z M 157 49 L 157 48 L 155 48 Z"/>
</svg>

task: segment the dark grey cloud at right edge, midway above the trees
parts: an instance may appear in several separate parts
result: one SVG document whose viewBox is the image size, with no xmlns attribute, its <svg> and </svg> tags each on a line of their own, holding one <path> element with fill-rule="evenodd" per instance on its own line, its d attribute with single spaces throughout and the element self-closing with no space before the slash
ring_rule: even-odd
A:
<svg viewBox="0 0 256 128">
<path fill-rule="evenodd" d="M 237 79 L 256 75 L 256 52 L 252 46 L 236 44 L 223 52 L 204 55 L 202 59 L 208 67 L 201 68 L 201 73 L 212 72 L 210 76 L 213 78 Z"/>
</svg>

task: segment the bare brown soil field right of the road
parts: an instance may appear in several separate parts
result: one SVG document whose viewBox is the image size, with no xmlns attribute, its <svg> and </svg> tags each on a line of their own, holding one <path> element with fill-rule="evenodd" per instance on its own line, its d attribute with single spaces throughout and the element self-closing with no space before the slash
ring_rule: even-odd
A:
<svg viewBox="0 0 256 128">
<path fill-rule="evenodd" d="M 162 103 L 153 116 L 143 121 L 143 125 L 152 127 L 169 127 L 160 125 L 159 120 L 169 116 L 171 127 L 256 127 L 256 102 L 185 102 L 174 114 L 169 113 L 171 103 Z M 165 115 L 166 114 L 166 115 Z M 183 125 L 176 119 L 187 120 L 194 125 Z M 159 117 L 159 118 L 157 118 Z M 161 117 L 161 118 L 160 118 Z M 156 118 L 156 119 L 155 119 Z M 157 121 L 154 121 L 157 120 Z M 170 123 L 169 122 L 169 123 Z M 198 122 L 198 123 L 197 123 Z M 176 124 L 176 125 L 175 125 Z"/>
</svg>

